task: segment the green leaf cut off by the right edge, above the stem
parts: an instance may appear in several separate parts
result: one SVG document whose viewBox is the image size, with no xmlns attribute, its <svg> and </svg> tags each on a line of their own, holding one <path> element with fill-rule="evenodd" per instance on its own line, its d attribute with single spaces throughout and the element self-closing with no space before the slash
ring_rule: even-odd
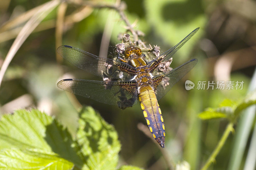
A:
<svg viewBox="0 0 256 170">
<path fill-rule="evenodd" d="M 235 115 L 238 115 L 242 110 L 251 106 L 252 104 L 256 104 L 256 90 L 249 93 L 244 100 L 238 104 L 235 110 Z"/>
</svg>

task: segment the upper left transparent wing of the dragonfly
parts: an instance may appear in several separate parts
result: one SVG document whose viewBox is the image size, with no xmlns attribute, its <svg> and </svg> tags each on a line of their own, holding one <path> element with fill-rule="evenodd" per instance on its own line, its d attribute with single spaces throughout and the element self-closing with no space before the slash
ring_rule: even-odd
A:
<svg viewBox="0 0 256 170">
<path fill-rule="evenodd" d="M 130 79 L 135 73 L 135 68 L 124 62 L 98 57 L 72 46 L 60 46 L 57 52 L 76 67 L 100 77 L 104 76 L 103 73 L 108 73 L 109 78 L 118 79 L 125 76 Z"/>
</svg>

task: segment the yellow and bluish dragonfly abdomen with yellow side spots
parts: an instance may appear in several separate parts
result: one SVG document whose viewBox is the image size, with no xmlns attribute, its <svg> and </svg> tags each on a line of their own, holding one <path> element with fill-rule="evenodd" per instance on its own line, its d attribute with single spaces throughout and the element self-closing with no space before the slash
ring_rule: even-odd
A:
<svg viewBox="0 0 256 170">
<path fill-rule="evenodd" d="M 164 148 L 164 119 L 154 90 L 150 86 L 141 87 L 139 90 L 139 100 L 151 134 L 158 144 Z"/>
</svg>

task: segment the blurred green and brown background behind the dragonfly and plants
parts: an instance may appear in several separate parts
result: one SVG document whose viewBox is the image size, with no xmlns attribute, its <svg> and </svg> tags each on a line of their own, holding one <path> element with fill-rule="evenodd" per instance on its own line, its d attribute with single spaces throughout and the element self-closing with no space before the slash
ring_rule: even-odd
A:
<svg viewBox="0 0 256 170">
<path fill-rule="evenodd" d="M 0 1 L 0 67 L 25 17 L 21 14 L 46 3 L 46 0 Z M 92 1 L 115 4 L 116 1 Z M 245 96 L 256 65 L 256 2 L 252 0 L 125 0 L 125 14 L 134 29 L 145 33 L 146 44 L 158 45 L 165 52 L 195 28 L 199 31 L 174 56 L 172 68 L 189 59 L 199 62 L 160 101 L 166 130 L 164 150 L 175 163 L 187 161 L 191 169 L 199 169 L 217 145 L 226 120 L 202 121 L 197 114 L 206 107 L 217 107 L 225 98 L 239 101 Z M 167 169 L 162 152 L 142 131 L 145 124 L 140 105 L 121 110 L 116 106 L 74 96 L 57 88 L 63 78 L 100 80 L 65 61 L 56 61 L 57 45 L 69 45 L 95 55 L 106 55 L 121 43 L 118 35 L 126 31 L 118 13 L 108 8 L 91 8 L 67 4 L 62 42 L 56 41 L 56 20 L 59 6 L 38 25 L 22 44 L 8 66 L 0 87 L 0 112 L 12 113 L 18 108 L 36 107 L 57 117 L 71 133 L 77 128 L 77 103 L 90 105 L 113 124 L 121 141 L 120 164 L 145 169 Z M 76 15 L 75 15 L 76 14 Z M 71 16 L 71 17 L 70 17 Z M 14 21 L 13 21 L 14 20 Z M 13 21 L 11 27 L 4 27 Z M 57 33 L 58 34 L 58 33 Z M 110 43 L 102 44 L 103 35 Z M 58 59 L 58 57 L 57 57 Z M 195 88 L 187 91 L 184 83 L 193 81 Z M 197 81 L 244 81 L 242 90 L 196 89 Z M 255 120 L 253 121 L 255 124 Z M 236 127 L 235 127 L 236 129 Z M 252 126 L 253 130 L 253 126 Z M 250 136 L 252 131 L 250 132 Z M 244 168 L 250 136 L 240 166 Z M 211 169 L 230 168 L 234 145 L 230 135 Z"/>
</svg>

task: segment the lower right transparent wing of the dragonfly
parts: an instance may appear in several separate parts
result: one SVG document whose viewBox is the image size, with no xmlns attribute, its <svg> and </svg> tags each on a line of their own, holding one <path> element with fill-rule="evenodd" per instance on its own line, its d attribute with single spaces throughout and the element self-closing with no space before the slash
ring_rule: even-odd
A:
<svg viewBox="0 0 256 170">
<path fill-rule="evenodd" d="M 153 77 L 153 81 L 159 82 L 156 85 L 156 98 L 160 100 L 180 79 L 195 67 L 197 59 L 192 59 L 172 71 Z"/>
</svg>

